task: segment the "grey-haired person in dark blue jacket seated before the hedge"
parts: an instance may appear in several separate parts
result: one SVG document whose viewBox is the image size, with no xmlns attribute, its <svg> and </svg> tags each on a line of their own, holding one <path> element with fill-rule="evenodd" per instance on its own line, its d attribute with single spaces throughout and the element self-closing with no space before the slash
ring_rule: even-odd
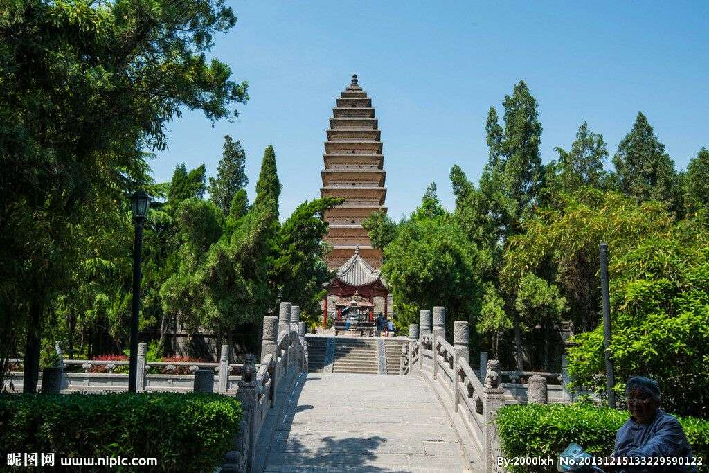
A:
<svg viewBox="0 0 709 473">
<path fill-rule="evenodd" d="M 616 471 L 625 472 L 696 472 L 691 461 L 692 449 L 684 430 L 674 416 L 659 408 L 660 389 L 654 380 L 642 376 L 628 379 L 625 398 L 630 418 L 615 435 L 613 457 L 665 457 L 683 458 L 684 464 L 656 466 L 624 466 Z M 666 462 L 666 460 L 665 460 Z"/>
</svg>

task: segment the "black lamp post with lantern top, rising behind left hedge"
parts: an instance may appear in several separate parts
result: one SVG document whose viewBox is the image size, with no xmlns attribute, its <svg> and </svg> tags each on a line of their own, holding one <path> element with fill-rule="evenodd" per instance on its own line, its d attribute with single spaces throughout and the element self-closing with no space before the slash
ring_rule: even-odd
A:
<svg viewBox="0 0 709 473">
<path fill-rule="evenodd" d="M 135 392 L 138 372 L 138 322 L 140 313 L 140 260 L 143 247 L 143 221 L 150 206 L 150 197 L 138 191 L 130 198 L 130 210 L 135 223 L 135 243 L 133 243 L 133 317 L 130 321 L 130 366 L 128 371 L 128 392 Z"/>
</svg>

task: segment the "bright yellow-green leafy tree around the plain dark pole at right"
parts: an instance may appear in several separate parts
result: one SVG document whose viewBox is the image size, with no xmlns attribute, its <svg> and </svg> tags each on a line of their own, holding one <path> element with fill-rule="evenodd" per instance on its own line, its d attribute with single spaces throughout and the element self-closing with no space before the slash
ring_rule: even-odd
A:
<svg viewBox="0 0 709 473">
<path fill-rule="evenodd" d="M 610 258 L 610 354 L 616 389 L 642 374 L 656 379 L 666 408 L 709 414 L 709 225 L 707 213 L 647 236 Z M 603 324 L 576 335 L 569 373 L 576 386 L 603 392 Z M 601 379 L 598 379 L 601 378 Z"/>
</svg>

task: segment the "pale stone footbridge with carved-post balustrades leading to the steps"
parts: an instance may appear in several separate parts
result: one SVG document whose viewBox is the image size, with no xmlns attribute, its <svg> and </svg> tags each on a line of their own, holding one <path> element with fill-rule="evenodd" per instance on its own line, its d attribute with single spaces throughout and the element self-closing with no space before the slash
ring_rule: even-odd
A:
<svg viewBox="0 0 709 473">
<path fill-rule="evenodd" d="M 281 303 L 263 333 L 261 363 L 239 381 L 245 419 L 222 472 L 497 472 L 497 409 L 568 401 L 547 386 L 557 373 L 503 383 L 482 355 L 472 369 L 469 325 L 456 321 L 449 343 L 442 307 L 421 311 L 409 338 L 385 340 L 306 335 L 299 309 Z"/>
</svg>

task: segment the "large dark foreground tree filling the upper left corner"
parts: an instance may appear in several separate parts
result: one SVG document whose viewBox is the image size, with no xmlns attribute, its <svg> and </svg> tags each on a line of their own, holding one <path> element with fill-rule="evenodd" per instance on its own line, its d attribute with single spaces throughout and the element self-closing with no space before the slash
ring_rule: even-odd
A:
<svg viewBox="0 0 709 473">
<path fill-rule="evenodd" d="M 164 149 L 164 126 L 183 108 L 214 121 L 247 100 L 246 84 L 205 54 L 235 20 L 223 0 L 6 2 L 0 300 L 26 328 L 25 392 L 35 391 L 48 304 L 69 276 L 71 230 L 89 192 L 138 175 L 140 150 Z"/>
</svg>

